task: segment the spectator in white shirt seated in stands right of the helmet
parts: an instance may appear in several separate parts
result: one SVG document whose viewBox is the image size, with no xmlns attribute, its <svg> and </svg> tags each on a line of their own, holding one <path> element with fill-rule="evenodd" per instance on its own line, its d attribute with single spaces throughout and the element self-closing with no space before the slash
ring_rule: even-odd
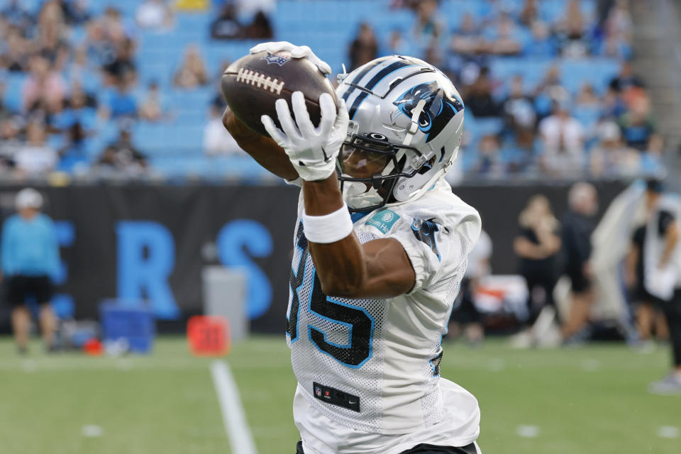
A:
<svg viewBox="0 0 681 454">
<path fill-rule="evenodd" d="M 554 113 L 539 123 L 542 166 L 551 175 L 578 177 L 584 165 L 584 128 L 570 115 L 568 103 L 555 103 Z"/>
</svg>

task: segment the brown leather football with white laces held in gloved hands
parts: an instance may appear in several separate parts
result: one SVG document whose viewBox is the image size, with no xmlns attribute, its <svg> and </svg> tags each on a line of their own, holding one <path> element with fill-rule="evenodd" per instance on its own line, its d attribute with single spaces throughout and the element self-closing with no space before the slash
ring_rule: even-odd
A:
<svg viewBox="0 0 681 454">
<path fill-rule="evenodd" d="M 319 68 L 306 58 L 292 58 L 289 52 L 258 52 L 233 62 L 221 80 L 222 93 L 234 115 L 246 126 L 267 135 L 260 116 L 269 115 L 277 127 L 275 101 L 286 99 L 293 115 L 291 95 L 303 92 L 314 126 L 319 126 L 319 95 L 328 93 L 338 109 L 333 85 Z"/>
</svg>

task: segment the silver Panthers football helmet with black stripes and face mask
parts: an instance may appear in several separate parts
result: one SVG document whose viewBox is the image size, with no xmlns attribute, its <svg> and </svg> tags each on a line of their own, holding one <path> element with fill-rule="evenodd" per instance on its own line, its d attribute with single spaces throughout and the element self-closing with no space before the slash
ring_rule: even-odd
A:
<svg viewBox="0 0 681 454">
<path fill-rule="evenodd" d="M 338 76 L 350 115 L 338 179 L 350 211 L 417 199 L 449 170 L 463 134 L 454 84 L 423 60 L 381 57 Z"/>
</svg>

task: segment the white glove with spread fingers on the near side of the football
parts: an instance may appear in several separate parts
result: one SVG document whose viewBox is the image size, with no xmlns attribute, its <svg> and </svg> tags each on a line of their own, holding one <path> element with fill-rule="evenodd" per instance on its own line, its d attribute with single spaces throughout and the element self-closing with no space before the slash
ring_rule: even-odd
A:
<svg viewBox="0 0 681 454">
<path fill-rule="evenodd" d="M 284 148 L 302 179 L 308 182 L 326 179 L 336 172 L 336 157 L 348 133 L 348 109 L 345 108 L 345 101 L 341 99 L 336 114 L 336 104 L 331 95 L 321 94 L 321 120 L 316 128 L 310 121 L 303 93 L 294 92 L 291 101 L 295 121 L 285 99 L 277 99 L 275 103 L 283 132 L 275 126 L 270 116 L 263 115 L 260 120 L 277 145 Z"/>
</svg>

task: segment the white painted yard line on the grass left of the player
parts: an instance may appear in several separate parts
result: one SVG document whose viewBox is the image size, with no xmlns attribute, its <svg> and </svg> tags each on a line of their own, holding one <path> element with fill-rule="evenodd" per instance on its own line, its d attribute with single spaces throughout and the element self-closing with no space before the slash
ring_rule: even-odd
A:
<svg viewBox="0 0 681 454">
<path fill-rule="evenodd" d="M 218 393 L 220 411 L 228 433 L 233 454 L 257 454 L 253 435 L 246 422 L 239 390 L 226 362 L 215 360 L 211 364 L 211 375 Z"/>
</svg>

